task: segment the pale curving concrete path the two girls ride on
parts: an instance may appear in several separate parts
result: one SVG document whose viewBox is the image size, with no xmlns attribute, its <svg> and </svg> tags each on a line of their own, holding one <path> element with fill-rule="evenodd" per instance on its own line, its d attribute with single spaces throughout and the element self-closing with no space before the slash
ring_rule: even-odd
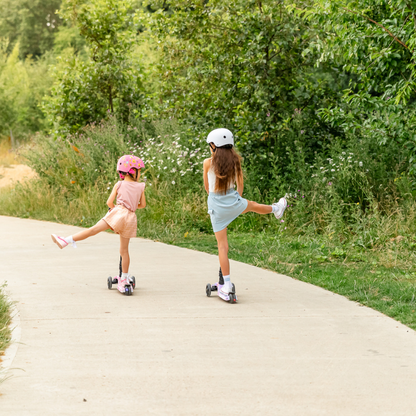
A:
<svg viewBox="0 0 416 416">
<path fill-rule="evenodd" d="M 76 227 L 0 217 L 0 283 L 21 343 L 0 414 L 416 414 L 416 333 L 323 289 L 232 262 L 239 303 L 215 294 L 215 256 L 131 241 L 137 290 L 109 291 L 118 236 L 59 250 Z"/>
</svg>

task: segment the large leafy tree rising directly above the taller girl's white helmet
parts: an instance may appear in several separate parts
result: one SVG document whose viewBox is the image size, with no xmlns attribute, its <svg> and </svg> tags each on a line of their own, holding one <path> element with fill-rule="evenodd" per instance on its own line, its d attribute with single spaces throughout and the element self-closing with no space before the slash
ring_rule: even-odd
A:
<svg viewBox="0 0 416 416">
<path fill-rule="evenodd" d="M 348 85 L 343 74 L 315 68 L 316 56 L 304 54 L 316 29 L 287 5 L 156 1 L 143 17 L 162 54 L 157 111 L 206 130 L 230 128 L 250 156 L 246 166 L 261 164 L 270 181 L 289 174 L 287 147 L 296 149 L 296 140 L 305 141 L 309 158 L 328 142 L 333 132 L 317 110 Z"/>
</svg>

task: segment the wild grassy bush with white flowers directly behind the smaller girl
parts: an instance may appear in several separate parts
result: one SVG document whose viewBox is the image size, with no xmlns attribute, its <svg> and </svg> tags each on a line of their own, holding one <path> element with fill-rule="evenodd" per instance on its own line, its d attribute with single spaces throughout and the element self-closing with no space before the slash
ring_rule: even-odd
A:
<svg viewBox="0 0 416 416">
<path fill-rule="evenodd" d="M 141 180 L 147 184 L 149 200 L 148 208 L 138 214 L 139 228 L 151 228 L 151 223 L 157 221 L 168 229 L 182 227 L 184 232 L 210 229 L 202 180 L 202 162 L 209 148 L 201 135 L 174 121 L 132 120 L 125 127 L 110 116 L 66 139 L 37 135 L 23 154 L 39 174 L 37 194 L 42 188 L 48 189 L 39 196 L 49 199 L 44 209 L 48 205 L 67 205 L 75 214 L 72 223 L 91 225 L 104 215 L 107 196 L 119 180 L 117 160 L 123 154 L 134 154 L 146 165 Z M 33 199 L 25 186 L 13 192 Z M 100 208 L 90 207 L 86 201 L 89 195 Z M 36 203 L 31 203 L 23 215 L 30 216 L 35 209 Z"/>
</svg>

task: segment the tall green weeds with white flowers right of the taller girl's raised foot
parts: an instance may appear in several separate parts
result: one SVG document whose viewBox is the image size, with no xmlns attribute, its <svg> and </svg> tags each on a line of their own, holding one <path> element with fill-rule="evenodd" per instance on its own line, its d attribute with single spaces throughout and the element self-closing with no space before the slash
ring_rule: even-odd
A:
<svg viewBox="0 0 416 416">
<path fill-rule="evenodd" d="M 298 145 L 302 150 L 302 144 Z M 347 146 L 333 143 L 329 157 L 317 157 L 314 165 L 301 166 L 294 155 L 299 173 L 297 187 L 289 192 L 291 226 L 302 234 L 336 233 L 345 239 L 370 229 L 372 234 L 365 238 L 368 247 L 394 235 L 385 226 L 388 215 L 398 210 L 398 203 L 405 209 L 413 198 L 411 183 L 400 174 L 406 163 L 404 152 L 395 142 L 386 145 L 386 150 L 381 153 L 371 140 L 352 137 Z M 396 215 L 404 212 L 398 210 Z M 378 228 L 375 224 L 384 225 Z"/>
</svg>

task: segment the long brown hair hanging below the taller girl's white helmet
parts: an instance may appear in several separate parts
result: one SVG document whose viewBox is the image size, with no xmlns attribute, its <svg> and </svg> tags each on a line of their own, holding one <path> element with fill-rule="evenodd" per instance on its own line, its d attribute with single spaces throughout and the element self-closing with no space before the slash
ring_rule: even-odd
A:
<svg viewBox="0 0 416 416">
<path fill-rule="evenodd" d="M 212 168 L 217 180 L 215 192 L 226 194 L 230 185 L 243 176 L 241 156 L 229 147 L 217 147 L 212 155 Z"/>
</svg>

